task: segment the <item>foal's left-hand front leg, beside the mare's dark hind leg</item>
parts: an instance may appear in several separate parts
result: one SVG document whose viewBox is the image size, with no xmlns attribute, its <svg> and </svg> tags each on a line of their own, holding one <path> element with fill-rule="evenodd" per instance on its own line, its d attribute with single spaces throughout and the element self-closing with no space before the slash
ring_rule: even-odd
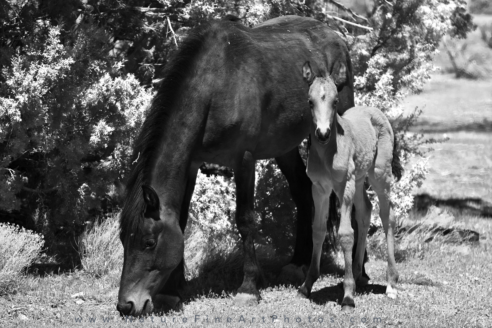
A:
<svg viewBox="0 0 492 328">
<path fill-rule="evenodd" d="M 307 271 L 306 280 L 299 288 L 298 296 L 308 298 L 311 295 L 312 285 L 319 278 L 319 260 L 323 241 L 326 237 L 326 218 L 330 210 L 331 185 L 322 185 L 319 182 L 312 184 L 312 196 L 314 200 L 314 222 L 312 224 L 312 257 L 311 265 Z"/>
</svg>

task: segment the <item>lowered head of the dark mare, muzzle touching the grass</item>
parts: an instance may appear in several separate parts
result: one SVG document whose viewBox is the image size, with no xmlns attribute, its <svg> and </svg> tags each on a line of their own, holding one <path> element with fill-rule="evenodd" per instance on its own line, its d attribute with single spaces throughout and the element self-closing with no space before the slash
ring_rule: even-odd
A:
<svg viewBox="0 0 492 328">
<path fill-rule="evenodd" d="M 152 298 L 183 259 L 179 215 L 161 206 L 152 186 L 137 183 L 125 197 L 121 229 L 124 258 L 117 309 L 122 316 L 149 314 Z"/>
</svg>

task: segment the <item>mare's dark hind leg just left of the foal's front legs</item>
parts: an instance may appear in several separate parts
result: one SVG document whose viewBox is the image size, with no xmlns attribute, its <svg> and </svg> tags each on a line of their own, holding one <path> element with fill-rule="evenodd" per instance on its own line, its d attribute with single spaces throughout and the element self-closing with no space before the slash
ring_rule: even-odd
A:
<svg viewBox="0 0 492 328">
<path fill-rule="evenodd" d="M 296 148 L 275 158 L 280 171 L 289 183 L 290 193 L 297 209 L 297 233 L 294 256 L 290 264 L 280 271 L 278 279 L 291 283 L 304 280 L 304 271 L 309 266 L 312 253 L 312 193 L 311 180 L 306 174 L 306 165 Z"/>
</svg>

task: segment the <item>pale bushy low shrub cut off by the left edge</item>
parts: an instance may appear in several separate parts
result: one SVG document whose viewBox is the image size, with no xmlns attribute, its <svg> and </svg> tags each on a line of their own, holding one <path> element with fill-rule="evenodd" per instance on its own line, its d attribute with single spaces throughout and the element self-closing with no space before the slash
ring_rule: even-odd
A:
<svg viewBox="0 0 492 328">
<path fill-rule="evenodd" d="M 19 226 L 0 223 L 0 292 L 8 292 L 23 270 L 39 257 L 43 236 Z"/>
</svg>

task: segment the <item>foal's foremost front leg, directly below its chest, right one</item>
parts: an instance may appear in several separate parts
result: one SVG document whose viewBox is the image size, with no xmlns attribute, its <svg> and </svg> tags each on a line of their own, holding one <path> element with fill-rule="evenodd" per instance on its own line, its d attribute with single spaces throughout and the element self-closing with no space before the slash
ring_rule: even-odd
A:
<svg viewBox="0 0 492 328">
<path fill-rule="evenodd" d="M 336 190 L 337 191 L 337 190 Z M 338 239 L 343 257 L 345 259 L 345 276 L 343 277 L 343 300 L 341 302 L 342 312 L 352 312 L 355 307 L 354 292 L 355 280 L 352 273 L 352 248 L 354 246 L 354 230 L 350 224 L 350 212 L 355 192 L 355 177 L 352 176 L 345 184 L 344 190 L 338 192 L 341 199 L 340 228 L 338 229 Z"/>
</svg>

